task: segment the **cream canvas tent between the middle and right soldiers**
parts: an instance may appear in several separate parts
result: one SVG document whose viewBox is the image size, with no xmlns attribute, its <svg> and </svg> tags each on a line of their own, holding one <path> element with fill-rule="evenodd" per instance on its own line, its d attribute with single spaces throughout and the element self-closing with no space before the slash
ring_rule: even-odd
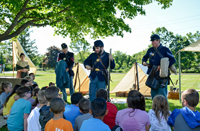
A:
<svg viewBox="0 0 200 131">
<path fill-rule="evenodd" d="M 138 69 L 138 81 L 139 81 L 139 91 L 146 97 L 151 96 L 151 89 L 145 85 L 148 75 L 147 67 L 137 63 Z M 137 75 L 136 75 L 136 64 L 129 70 L 129 72 L 124 76 L 124 78 L 119 82 L 119 84 L 111 91 L 111 93 L 117 92 L 128 92 L 133 89 L 133 85 L 137 85 Z"/>
</svg>

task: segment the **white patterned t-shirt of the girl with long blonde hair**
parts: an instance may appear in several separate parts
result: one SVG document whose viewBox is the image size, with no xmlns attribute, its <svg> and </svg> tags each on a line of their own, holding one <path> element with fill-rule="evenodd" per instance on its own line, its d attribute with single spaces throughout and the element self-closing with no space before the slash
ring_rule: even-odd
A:
<svg viewBox="0 0 200 131">
<path fill-rule="evenodd" d="M 165 117 L 162 116 L 161 113 L 160 113 L 160 122 L 156 117 L 155 111 L 153 109 L 149 110 L 148 114 L 151 122 L 151 127 L 149 131 L 171 131 L 170 126 L 167 124 Z"/>
</svg>

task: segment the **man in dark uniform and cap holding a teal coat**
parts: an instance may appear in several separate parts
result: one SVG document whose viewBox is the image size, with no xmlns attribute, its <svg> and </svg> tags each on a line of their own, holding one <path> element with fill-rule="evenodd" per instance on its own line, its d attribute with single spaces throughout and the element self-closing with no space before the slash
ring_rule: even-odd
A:
<svg viewBox="0 0 200 131">
<path fill-rule="evenodd" d="M 66 71 L 69 73 L 70 79 L 66 84 L 64 84 L 64 87 L 59 87 L 59 88 L 61 89 L 61 92 L 63 93 L 63 99 L 67 101 L 66 88 L 69 88 L 70 95 L 74 93 L 74 86 L 73 86 L 74 72 L 72 70 L 73 65 L 74 65 L 74 53 L 68 51 L 68 47 L 65 43 L 61 44 L 61 47 L 62 47 L 63 52 L 58 54 L 57 61 L 60 61 L 62 59 L 66 61 L 67 63 Z M 63 56 L 64 58 L 62 58 Z"/>
</svg>

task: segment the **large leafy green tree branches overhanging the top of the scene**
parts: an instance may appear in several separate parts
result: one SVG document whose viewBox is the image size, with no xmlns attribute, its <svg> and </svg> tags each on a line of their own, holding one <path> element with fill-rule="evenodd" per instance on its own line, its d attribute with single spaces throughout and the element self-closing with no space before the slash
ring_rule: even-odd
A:
<svg viewBox="0 0 200 131">
<path fill-rule="evenodd" d="M 166 9 L 173 0 L 156 0 Z M 91 35 L 123 36 L 131 32 L 124 19 L 145 15 L 152 0 L 1 0 L 0 42 L 18 36 L 28 27 L 50 25 L 56 34 L 83 38 Z M 119 15 L 116 15 L 119 14 Z M 119 17 L 117 17 L 119 16 Z"/>
</svg>

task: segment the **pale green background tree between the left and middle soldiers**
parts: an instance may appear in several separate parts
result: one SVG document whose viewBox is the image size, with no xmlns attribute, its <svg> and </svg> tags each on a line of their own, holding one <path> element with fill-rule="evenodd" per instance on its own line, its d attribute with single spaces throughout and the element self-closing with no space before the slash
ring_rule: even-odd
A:
<svg viewBox="0 0 200 131">
<path fill-rule="evenodd" d="M 83 63 L 89 56 L 89 49 L 91 48 L 90 43 L 86 40 L 71 42 L 69 47 L 73 50 L 73 52 L 78 53 L 75 57 L 75 61 L 79 63 Z"/>
</svg>

